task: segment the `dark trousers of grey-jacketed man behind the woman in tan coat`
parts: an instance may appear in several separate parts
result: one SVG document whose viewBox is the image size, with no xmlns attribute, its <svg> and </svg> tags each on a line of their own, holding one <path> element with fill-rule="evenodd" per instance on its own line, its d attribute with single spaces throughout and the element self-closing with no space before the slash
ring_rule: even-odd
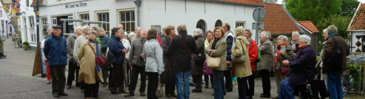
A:
<svg viewBox="0 0 365 99">
<path fill-rule="evenodd" d="M 75 72 L 76 72 L 76 86 L 80 86 L 80 83 L 78 83 L 78 70 L 80 70 L 80 66 L 77 66 L 77 63 L 74 61 L 69 61 L 67 86 L 72 86 L 72 81 L 75 79 Z"/>
</svg>

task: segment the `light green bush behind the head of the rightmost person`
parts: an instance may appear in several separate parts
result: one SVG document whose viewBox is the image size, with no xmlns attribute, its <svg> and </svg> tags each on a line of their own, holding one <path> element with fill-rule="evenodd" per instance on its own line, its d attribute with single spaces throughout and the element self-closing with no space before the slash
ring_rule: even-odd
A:
<svg viewBox="0 0 365 99">
<path fill-rule="evenodd" d="M 322 18 L 318 24 L 316 24 L 317 29 L 320 33 L 317 33 L 317 39 L 320 42 L 324 42 L 322 30 L 326 29 L 330 25 L 335 25 L 337 27 L 337 32 L 340 34 L 341 37 L 344 39 L 350 39 L 347 35 L 349 32 L 347 31 L 347 27 L 350 24 L 351 17 L 349 16 L 340 16 L 340 15 L 332 15 L 328 18 Z M 322 45 L 322 43 L 318 44 Z"/>
</svg>

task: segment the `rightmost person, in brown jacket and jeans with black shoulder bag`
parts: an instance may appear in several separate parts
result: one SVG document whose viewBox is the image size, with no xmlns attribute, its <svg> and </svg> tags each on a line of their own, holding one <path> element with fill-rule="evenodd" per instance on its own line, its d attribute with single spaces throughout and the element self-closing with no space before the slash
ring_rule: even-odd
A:
<svg viewBox="0 0 365 99">
<path fill-rule="evenodd" d="M 350 48 L 347 46 L 345 39 L 337 33 L 336 26 L 328 26 L 327 33 L 327 43 L 322 53 L 322 69 L 327 71 L 329 98 L 342 99 L 341 75 L 342 71 L 347 69 L 346 56 L 350 55 Z"/>
</svg>

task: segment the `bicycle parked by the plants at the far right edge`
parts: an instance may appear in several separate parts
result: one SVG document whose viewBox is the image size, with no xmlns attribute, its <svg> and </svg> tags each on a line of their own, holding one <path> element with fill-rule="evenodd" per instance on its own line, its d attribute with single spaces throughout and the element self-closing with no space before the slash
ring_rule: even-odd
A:
<svg viewBox="0 0 365 99">
<path fill-rule="evenodd" d="M 364 59 L 365 56 L 347 56 L 346 59 L 349 61 L 353 61 L 354 66 L 356 66 L 356 63 L 358 60 Z M 347 63 L 348 64 L 348 63 Z M 349 90 L 354 90 L 356 93 L 361 92 L 362 88 L 362 81 L 359 81 L 358 87 L 354 88 L 353 81 L 354 79 L 351 78 L 350 70 L 343 70 L 342 76 L 341 76 L 341 83 L 342 83 L 342 94 L 345 96 Z M 361 70 L 358 71 L 362 77 L 363 73 Z M 349 79 L 351 78 L 351 79 Z"/>
</svg>

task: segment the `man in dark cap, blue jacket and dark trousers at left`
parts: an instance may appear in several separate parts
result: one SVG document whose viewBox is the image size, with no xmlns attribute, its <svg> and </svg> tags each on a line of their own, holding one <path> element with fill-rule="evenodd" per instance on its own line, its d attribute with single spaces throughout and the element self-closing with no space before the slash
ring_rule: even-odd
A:
<svg viewBox="0 0 365 99">
<path fill-rule="evenodd" d="M 65 66 L 67 65 L 66 45 L 66 39 L 62 36 L 62 27 L 59 25 L 53 26 L 52 36 L 46 40 L 43 52 L 51 68 L 52 94 L 54 97 L 68 95 L 64 92 L 66 84 Z"/>
</svg>

